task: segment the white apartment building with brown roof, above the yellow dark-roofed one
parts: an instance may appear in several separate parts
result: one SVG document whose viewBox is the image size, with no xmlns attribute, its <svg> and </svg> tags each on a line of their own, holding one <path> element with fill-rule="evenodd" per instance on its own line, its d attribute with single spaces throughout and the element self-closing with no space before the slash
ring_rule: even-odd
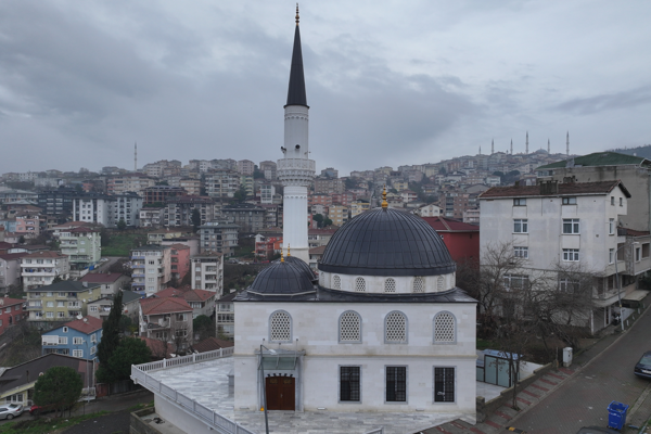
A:
<svg viewBox="0 0 651 434">
<path fill-rule="evenodd" d="M 59 252 L 35 252 L 21 258 L 21 277 L 25 291 L 50 285 L 54 278 L 69 279 L 67 255 Z"/>
</svg>

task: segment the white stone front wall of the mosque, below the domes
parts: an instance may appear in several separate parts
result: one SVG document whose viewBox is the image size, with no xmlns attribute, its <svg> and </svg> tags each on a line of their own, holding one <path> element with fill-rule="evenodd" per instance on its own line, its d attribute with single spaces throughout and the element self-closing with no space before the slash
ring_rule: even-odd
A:
<svg viewBox="0 0 651 434">
<path fill-rule="evenodd" d="M 235 303 L 235 409 L 259 407 L 257 357 L 268 348 L 304 350 L 297 408 L 332 411 L 475 411 L 475 305 L 407 303 Z M 284 310 L 292 317 L 292 342 L 269 342 L 269 317 Z M 346 310 L 361 317 L 361 343 L 339 342 L 339 320 Z M 384 341 L 391 311 L 407 316 L 407 343 Z M 433 343 L 435 315 L 456 318 L 456 342 Z M 361 403 L 339 403 L 339 366 L 361 367 Z M 385 404 L 385 366 L 407 366 L 407 403 Z M 456 367 L 456 401 L 434 404 L 433 368 Z"/>
</svg>

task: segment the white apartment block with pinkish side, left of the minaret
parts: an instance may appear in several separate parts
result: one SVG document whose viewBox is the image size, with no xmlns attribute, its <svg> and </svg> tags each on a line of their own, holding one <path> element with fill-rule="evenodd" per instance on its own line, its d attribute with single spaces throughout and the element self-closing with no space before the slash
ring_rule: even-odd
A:
<svg viewBox="0 0 651 434">
<path fill-rule="evenodd" d="M 131 251 L 131 290 L 151 295 L 164 290 L 171 280 L 171 248 L 149 244 Z"/>
</svg>

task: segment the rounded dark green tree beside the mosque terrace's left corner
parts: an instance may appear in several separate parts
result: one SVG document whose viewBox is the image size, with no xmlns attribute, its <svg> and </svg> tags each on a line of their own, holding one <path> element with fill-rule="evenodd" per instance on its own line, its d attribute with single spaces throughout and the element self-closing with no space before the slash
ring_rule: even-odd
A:
<svg viewBox="0 0 651 434">
<path fill-rule="evenodd" d="M 98 380 L 103 383 L 128 380 L 131 375 L 131 365 L 146 363 L 151 358 L 152 352 L 144 341 L 138 337 L 125 337 L 119 341 L 106 363 L 100 365 Z"/>
</svg>

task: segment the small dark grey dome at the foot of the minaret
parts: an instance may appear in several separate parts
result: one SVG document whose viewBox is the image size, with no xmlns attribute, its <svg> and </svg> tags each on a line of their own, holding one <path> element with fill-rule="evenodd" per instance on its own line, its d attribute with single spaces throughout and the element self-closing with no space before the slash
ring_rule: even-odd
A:
<svg viewBox="0 0 651 434">
<path fill-rule="evenodd" d="M 248 288 L 248 292 L 261 295 L 314 292 L 312 279 L 312 272 L 306 271 L 299 265 L 286 260 L 273 263 L 258 273 Z"/>
</svg>

